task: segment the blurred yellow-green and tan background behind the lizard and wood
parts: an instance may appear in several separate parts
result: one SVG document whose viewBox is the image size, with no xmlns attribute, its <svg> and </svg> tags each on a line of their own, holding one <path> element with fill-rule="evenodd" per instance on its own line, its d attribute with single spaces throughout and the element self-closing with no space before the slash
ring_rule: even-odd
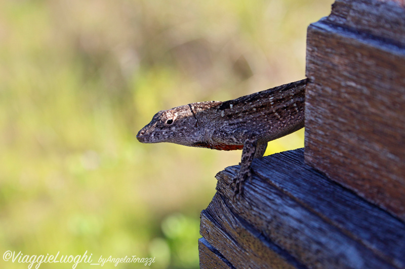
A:
<svg viewBox="0 0 405 269">
<path fill-rule="evenodd" d="M 1 1 L 0 254 L 87 250 L 94 261 L 198 268 L 199 213 L 241 151 L 141 144 L 135 134 L 159 110 L 304 78 L 306 28 L 331 4 Z M 266 154 L 302 146 L 303 130 Z M 55 267 L 71 264 L 41 265 Z"/>
</svg>

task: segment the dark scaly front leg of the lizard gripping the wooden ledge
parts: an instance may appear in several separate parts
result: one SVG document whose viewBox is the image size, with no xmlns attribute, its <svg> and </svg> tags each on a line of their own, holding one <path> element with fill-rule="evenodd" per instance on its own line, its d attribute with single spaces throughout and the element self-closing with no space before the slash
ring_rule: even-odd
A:
<svg viewBox="0 0 405 269">
<path fill-rule="evenodd" d="M 255 135 L 249 136 L 244 143 L 242 157 L 240 162 L 240 170 L 233 180 L 234 194 L 233 198 L 243 194 L 244 182 L 251 177 L 251 165 L 254 158 L 262 157 L 266 151 L 267 142 L 258 142 Z"/>
</svg>

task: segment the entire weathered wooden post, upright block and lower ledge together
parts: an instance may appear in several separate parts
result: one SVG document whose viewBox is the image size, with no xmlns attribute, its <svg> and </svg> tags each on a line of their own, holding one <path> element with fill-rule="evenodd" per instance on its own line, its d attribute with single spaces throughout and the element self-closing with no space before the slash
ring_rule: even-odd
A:
<svg viewBox="0 0 405 269">
<path fill-rule="evenodd" d="M 337 0 L 306 73 L 305 150 L 255 159 L 235 202 L 217 174 L 201 268 L 405 268 L 405 1 Z"/>
</svg>

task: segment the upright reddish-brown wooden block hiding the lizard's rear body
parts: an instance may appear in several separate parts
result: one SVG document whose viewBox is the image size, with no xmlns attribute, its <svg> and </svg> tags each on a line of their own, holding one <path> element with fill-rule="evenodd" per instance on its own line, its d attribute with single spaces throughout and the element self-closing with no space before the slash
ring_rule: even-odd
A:
<svg viewBox="0 0 405 269">
<path fill-rule="evenodd" d="M 405 221 L 404 7 L 338 0 L 308 27 L 305 160 Z"/>
</svg>

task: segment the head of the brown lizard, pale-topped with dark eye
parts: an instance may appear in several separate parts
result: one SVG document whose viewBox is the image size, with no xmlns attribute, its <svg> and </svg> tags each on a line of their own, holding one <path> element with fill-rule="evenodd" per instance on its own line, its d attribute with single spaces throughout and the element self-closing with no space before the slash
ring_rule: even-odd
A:
<svg viewBox="0 0 405 269">
<path fill-rule="evenodd" d="M 156 113 L 136 138 L 142 143 L 170 142 L 189 146 L 199 135 L 197 118 L 190 105 Z"/>
</svg>

